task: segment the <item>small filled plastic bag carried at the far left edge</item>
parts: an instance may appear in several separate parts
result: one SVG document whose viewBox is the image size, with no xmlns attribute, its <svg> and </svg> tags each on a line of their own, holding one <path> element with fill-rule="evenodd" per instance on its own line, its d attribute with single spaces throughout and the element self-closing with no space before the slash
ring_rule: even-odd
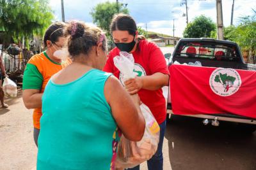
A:
<svg viewBox="0 0 256 170">
<path fill-rule="evenodd" d="M 16 97 L 17 96 L 17 85 L 10 80 L 10 78 L 4 78 L 3 92 L 5 96 Z"/>
</svg>

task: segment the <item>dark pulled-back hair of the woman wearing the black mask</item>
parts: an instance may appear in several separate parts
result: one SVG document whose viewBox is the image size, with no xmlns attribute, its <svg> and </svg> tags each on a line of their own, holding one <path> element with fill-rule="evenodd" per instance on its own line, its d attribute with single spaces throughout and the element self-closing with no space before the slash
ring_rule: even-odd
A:
<svg viewBox="0 0 256 170">
<path fill-rule="evenodd" d="M 137 25 L 135 20 L 127 14 L 118 13 L 114 15 L 111 25 L 110 25 L 111 32 L 113 31 L 128 31 L 129 34 L 134 36 L 135 32 L 137 31 Z M 138 39 L 145 39 L 144 36 L 138 36 Z"/>
</svg>

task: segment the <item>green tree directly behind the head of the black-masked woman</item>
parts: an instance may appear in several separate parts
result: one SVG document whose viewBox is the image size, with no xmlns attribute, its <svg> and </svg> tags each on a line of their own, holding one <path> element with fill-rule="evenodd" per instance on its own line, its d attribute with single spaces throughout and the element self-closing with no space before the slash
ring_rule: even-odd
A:
<svg viewBox="0 0 256 170">
<path fill-rule="evenodd" d="M 111 24 L 113 16 L 118 12 L 129 13 L 128 9 L 124 8 L 122 4 L 110 3 L 108 1 L 106 3 L 97 4 L 90 14 L 92 15 L 93 23 L 106 31 L 107 36 L 110 36 L 109 25 Z"/>
</svg>

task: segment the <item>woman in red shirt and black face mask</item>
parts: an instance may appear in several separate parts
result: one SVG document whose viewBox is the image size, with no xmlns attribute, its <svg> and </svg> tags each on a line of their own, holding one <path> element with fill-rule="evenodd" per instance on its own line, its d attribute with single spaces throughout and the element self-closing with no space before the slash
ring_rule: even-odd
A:
<svg viewBox="0 0 256 170">
<path fill-rule="evenodd" d="M 156 154 L 148 160 L 148 169 L 163 169 L 163 138 L 166 125 L 166 102 L 162 87 L 168 85 L 169 72 L 164 55 L 159 47 L 138 36 L 134 19 L 129 15 L 118 14 L 111 22 L 111 33 L 116 47 L 109 52 L 104 71 L 113 73 L 130 94 L 138 93 L 140 99 L 153 113 L 160 126 L 160 139 Z M 113 58 L 120 51 L 132 53 L 135 78 L 124 81 L 122 73 L 115 67 Z M 136 166 L 132 169 L 140 169 Z"/>
</svg>

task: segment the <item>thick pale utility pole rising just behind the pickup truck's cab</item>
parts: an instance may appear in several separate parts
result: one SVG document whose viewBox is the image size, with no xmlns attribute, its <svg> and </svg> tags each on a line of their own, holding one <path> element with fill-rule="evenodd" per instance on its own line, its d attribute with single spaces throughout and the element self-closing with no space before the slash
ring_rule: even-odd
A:
<svg viewBox="0 0 256 170">
<path fill-rule="evenodd" d="M 224 39 L 221 0 L 216 0 L 216 9 L 217 9 L 217 39 Z"/>
</svg>

